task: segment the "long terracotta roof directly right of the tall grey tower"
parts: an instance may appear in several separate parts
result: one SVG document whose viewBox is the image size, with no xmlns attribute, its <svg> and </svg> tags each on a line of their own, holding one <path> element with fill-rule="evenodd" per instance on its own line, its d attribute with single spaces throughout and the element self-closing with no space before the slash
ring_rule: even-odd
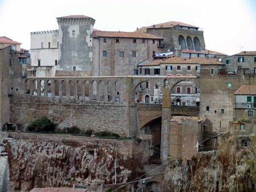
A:
<svg viewBox="0 0 256 192">
<path fill-rule="evenodd" d="M 97 37 L 125 37 L 125 38 L 141 38 L 141 39 L 163 39 L 158 35 L 143 34 L 138 32 L 118 32 L 118 31 L 93 31 L 93 36 Z"/>
</svg>

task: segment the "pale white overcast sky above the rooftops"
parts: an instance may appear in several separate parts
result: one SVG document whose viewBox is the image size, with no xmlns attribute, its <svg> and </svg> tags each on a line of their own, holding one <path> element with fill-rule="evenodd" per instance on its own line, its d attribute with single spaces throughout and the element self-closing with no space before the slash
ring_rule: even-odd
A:
<svg viewBox="0 0 256 192">
<path fill-rule="evenodd" d="M 86 15 L 104 31 L 179 21 L 203 28 L 206 48 L 233 55 L 256 51 L 255 0 L 0 0 L 0 36 L 30 49 L 30 32 L 56 30 L 56 17 Z"/>
</svg>

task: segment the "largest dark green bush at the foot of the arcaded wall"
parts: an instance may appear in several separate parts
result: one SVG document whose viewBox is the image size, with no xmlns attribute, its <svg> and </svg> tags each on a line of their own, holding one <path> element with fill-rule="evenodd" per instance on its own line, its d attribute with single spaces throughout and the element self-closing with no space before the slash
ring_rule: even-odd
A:
<svg viewBox="0 0 256 192">
<path fill-rule="evenodd" d="M 27 128 L 29 131 L 54 132 L 56 124 L 53 123 L 50 119 L 48 119 L 46 116 L 43 116 L 42 119 L 36 119 Z"/>
</svg>

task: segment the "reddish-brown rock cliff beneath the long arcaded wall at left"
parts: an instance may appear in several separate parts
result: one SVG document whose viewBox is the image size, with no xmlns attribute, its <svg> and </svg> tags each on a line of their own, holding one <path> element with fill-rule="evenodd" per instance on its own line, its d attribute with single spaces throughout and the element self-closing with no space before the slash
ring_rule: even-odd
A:
<svg viewBox="0 0 256 192">
<path fill-rule="evenodd" d="M 100 185 L 114 181 L 114 145 L 117 181 L 131 176 L 133 141 L 12 133 L 4 140 L 9 154 L 10 182 L 16 190 L 63 187 L 72 183 Z"/>
</svg>

